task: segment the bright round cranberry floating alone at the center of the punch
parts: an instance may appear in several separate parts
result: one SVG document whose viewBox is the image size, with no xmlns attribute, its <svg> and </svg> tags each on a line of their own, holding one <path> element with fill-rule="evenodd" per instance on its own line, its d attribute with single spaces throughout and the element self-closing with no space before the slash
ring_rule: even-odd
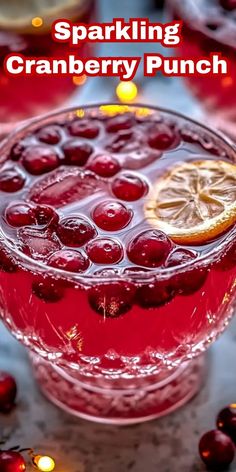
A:
<svg viewBox="0 0 236 472">
<path fill-rule="evenodd" d="M 119 231 L 125 228 L 130 223 L 132 216 L 131 210 L 115 201 L 99 203 L 92 213 L 96 225 L 105 231 Z"/>
</svg>

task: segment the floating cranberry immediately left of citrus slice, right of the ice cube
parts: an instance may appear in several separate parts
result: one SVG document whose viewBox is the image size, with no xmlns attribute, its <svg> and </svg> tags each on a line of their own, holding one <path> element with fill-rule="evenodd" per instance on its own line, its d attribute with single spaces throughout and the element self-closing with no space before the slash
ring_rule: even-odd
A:
<svg viewBox="0 0 236 472">
<path fill-rule="evenodd" d="M 112 182 L 112 192 L 117 198 L 133 202 L 147 192 L 147 184 L 133 174 L 123 174 Z"/>
</svg>

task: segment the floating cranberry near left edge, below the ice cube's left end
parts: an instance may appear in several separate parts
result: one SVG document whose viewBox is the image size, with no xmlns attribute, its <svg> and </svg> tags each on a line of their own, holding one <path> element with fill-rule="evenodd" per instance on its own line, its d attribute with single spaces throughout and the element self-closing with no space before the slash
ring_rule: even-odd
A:
<svg viewBox="0 0 236 472">
<path fill-rule="evenodd" d="M 28 203 L 15 203 L 7 207 L 5 212 L 7 223 L 11 226 L 29 226 L 36 223 L 34 209 Z"/>
</svg>

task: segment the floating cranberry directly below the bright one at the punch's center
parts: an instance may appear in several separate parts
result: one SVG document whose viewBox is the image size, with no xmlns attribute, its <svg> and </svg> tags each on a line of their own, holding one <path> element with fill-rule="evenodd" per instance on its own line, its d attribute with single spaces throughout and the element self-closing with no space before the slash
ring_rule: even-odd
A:
<svg viewBox="0 0 236 472">
<path fill-rule="evenodd" d="M 110 238 L 99 238 L 90 241 L 86 252 L 95 264 L 116 264 L 123 257 L 120 243 Z"/>
</svg>

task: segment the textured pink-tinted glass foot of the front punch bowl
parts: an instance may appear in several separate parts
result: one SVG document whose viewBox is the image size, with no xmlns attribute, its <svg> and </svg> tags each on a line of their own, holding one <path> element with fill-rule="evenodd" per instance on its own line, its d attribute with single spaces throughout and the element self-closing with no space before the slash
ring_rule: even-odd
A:
<svg viewBox="0 0 236 472">
<path fill-rule="evenodd" d="M 128 425 L 166 415 L 189 401 L 200 389 L 205 373 L 204 357 L 172 371 L 160 381 L 143 379 L 138 388 L 107 388 L 78 380 L 61 368 L 31 355 L 36 379 L 43 393 L 57 406 L 81 418 Z M 135 385 L 135 381 L 134 381 Z M 122 382 L 124 386 L 124 382 Z"/>
</svg>

